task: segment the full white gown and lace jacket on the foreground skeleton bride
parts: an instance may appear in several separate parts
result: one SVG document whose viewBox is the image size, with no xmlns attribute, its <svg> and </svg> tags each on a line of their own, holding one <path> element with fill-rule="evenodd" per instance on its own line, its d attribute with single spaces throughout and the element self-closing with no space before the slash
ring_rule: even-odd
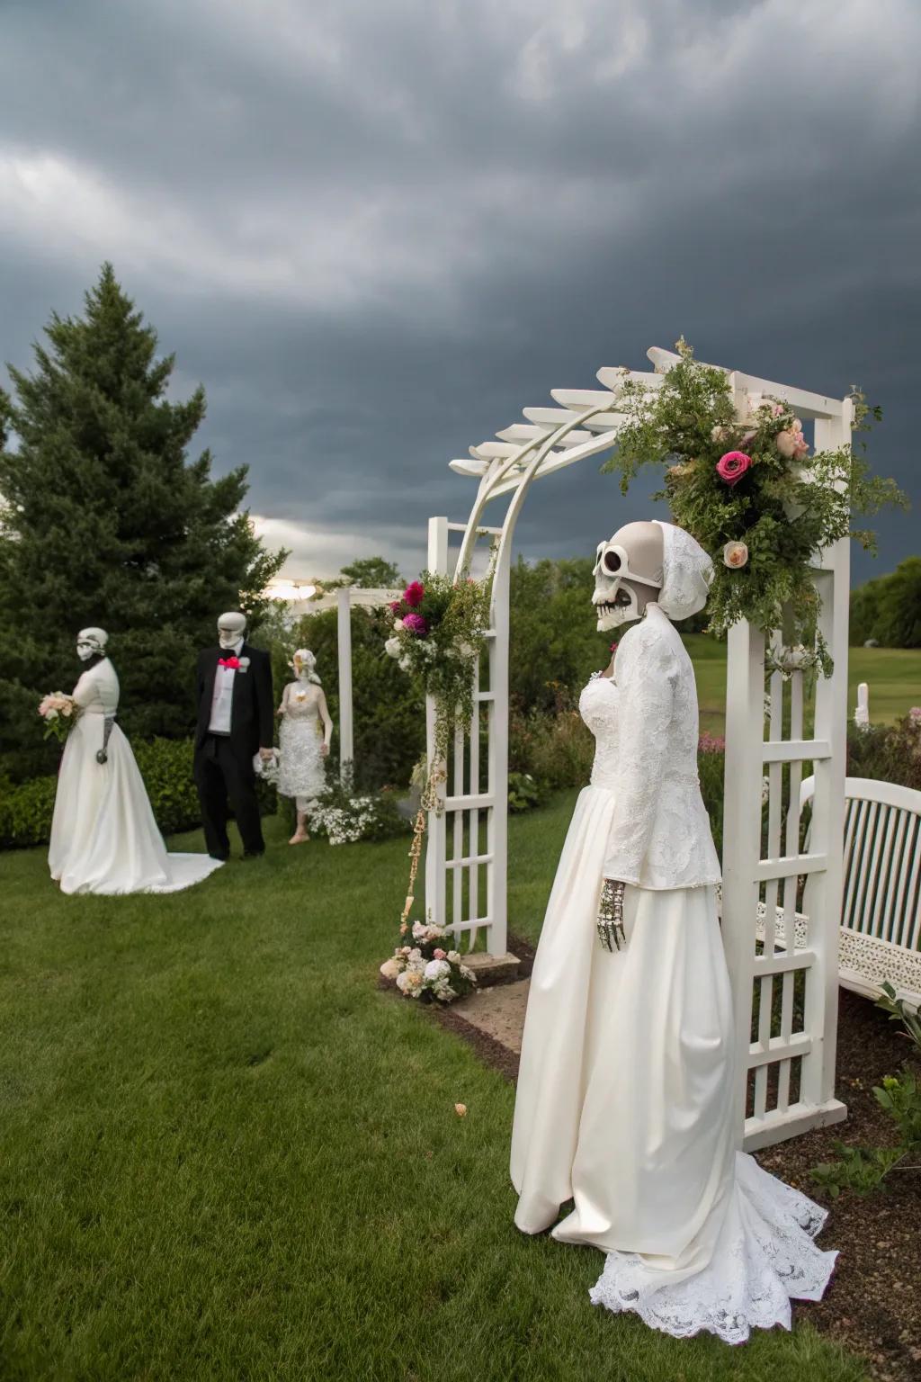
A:
<svg viewBox="0 0 921 1382">
<path fill-rule="evenodd" d="M 595 763 L 530 980 L 511 1175 L 519 1229 L 554 1226 L 558 1241 L 608 1255 L 595 1303 L 736 1343 L 755 1325 L 788 1328 L 790 1298 L 819 1299 L 835 1253 L 812 1241 L 824 1211 L 736 1148 L 697 694 L 666 612 L 682 608 L 668 601 L 675 546 L 667 535 L 659 601 L 621 638 L 613 674 L 581 694 Z M 605 879 L 626 884 L 624 940 L 610 949 L 598 931 Z"/>
</svg>

